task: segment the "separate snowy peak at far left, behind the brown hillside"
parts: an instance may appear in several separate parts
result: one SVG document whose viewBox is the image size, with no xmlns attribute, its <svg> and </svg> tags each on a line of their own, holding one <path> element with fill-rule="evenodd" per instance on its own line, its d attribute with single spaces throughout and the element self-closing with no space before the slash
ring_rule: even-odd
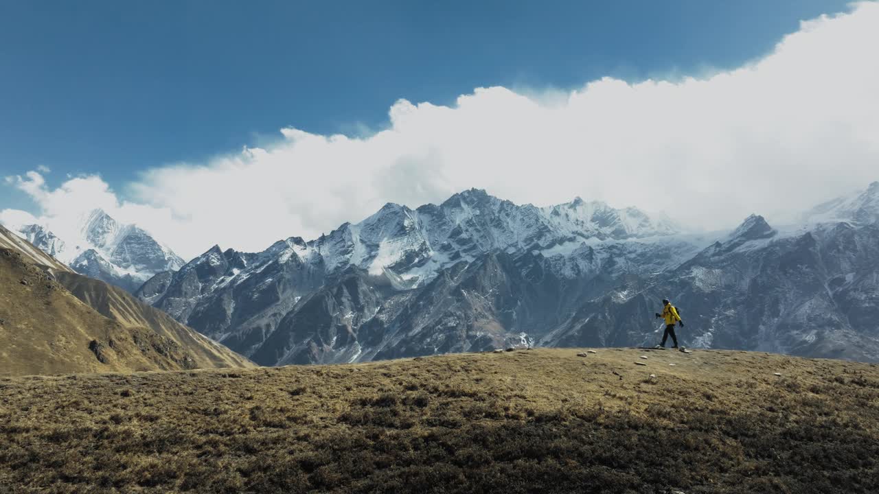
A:
<svg viewBox="0 0 879 494">
<path fill-rule="evenodd" d="M 134 292 L 157 272 L 185 264 L 170 248 L 143 229 L 122 224 L 101 209 L 84 214 L 76 225 L 64 225 L 64 237 L 49 225 L 9 225 L 40 250 L 76 272 Z"/>
</svg>

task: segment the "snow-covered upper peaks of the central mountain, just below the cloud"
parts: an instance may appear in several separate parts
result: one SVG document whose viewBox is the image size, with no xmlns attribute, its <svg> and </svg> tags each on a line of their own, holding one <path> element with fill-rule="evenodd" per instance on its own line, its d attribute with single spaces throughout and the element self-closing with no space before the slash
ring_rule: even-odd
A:
<svg viewBox="0 0 879 494">
<path fill-rule="evenodd" d="M 614 209 L 577 198 L 553 207 L 518 206 L 483 190 L 458 193 L 440 204 L 412 210 L 387 204 L 363 222 L 346 223 L 309 242 L 331 272 L 356 265 L 371 274 L 390 272 L 410 286 L 432 280 L 439 269 L 486 252 L 573 251 L 584 243 L 670 236 L 667 219 Z"/>
</svg>

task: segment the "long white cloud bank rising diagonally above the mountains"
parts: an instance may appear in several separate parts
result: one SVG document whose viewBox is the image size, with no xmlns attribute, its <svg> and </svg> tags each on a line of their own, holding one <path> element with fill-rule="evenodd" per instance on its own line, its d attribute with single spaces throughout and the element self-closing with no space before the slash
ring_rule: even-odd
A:
<svg viewBox="0 0 879 494">
<path fill-rule="evenodd" d="M 879 179 L 879 4 L 803 22 L 759 61 L 701 78 L 603 78 L 569 93 L 481 88 L 454 106 L 390 108 L 366 137 L 286 128 L 265 149 L 145 171 L 116 199 L 97 177 L 49 190 L 43 214 L 109 205 L 185 257 L 314 237 L 394 201 L 482 187 L 514 202 L 607 200 L 698 228 L 779 220 Z"/>
</svg>

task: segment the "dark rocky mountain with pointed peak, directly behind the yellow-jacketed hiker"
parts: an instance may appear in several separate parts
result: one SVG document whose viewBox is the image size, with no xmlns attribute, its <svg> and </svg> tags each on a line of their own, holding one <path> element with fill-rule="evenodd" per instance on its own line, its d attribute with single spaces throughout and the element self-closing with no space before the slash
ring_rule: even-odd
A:
<svg viewBox="0 0 879 494">
<path fill-rule="evenodd" d="M 879 361 L 877 266 L 875 224 L 781 235 L 752 216 L 642 290 L 586 301 L 541 344 L 655 344 L 662 324 L 650 308 L 667 297 L 686 321 L 685 345 Z"/>
</svg>

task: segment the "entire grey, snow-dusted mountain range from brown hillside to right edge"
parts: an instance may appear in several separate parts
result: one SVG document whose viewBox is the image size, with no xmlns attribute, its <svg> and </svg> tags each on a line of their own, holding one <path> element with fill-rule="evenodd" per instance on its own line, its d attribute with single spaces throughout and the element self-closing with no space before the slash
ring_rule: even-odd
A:
<svg viewBox="0 0 879 494">
<path fill-rule="evenodd" d="M 681 309 L 683 345 L 874 361 L 876 197 L 871 185 L 795 229 L 754 214 L 700 237 L 634 208 L 474 190 L 256 254 L 214 247 L 137 295 L 263 365 L 655 345 L 663 298 Z"/>
</svg>

